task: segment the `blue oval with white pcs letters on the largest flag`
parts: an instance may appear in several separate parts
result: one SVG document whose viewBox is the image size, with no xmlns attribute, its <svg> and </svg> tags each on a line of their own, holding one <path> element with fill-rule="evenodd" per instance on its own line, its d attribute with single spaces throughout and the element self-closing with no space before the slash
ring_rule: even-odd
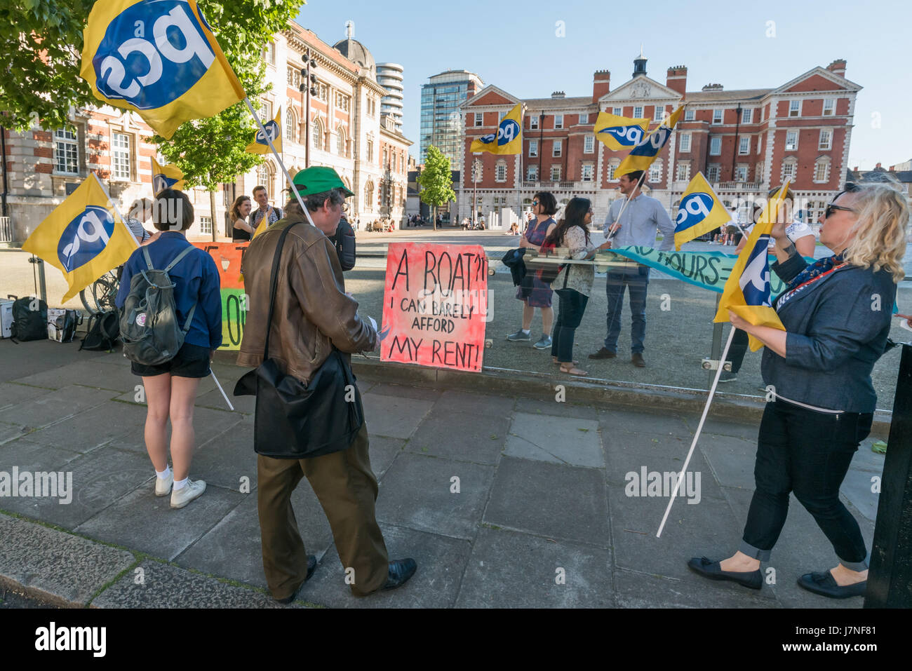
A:
<svg viewBox="0 0 912 671">
<path fill-rule="evenodd" d="M 110 22 L 92 58 L 98 90 L 140 109 L 181 98 L 215 54 L 179 0 L 143 0 Z"/>
</svg>

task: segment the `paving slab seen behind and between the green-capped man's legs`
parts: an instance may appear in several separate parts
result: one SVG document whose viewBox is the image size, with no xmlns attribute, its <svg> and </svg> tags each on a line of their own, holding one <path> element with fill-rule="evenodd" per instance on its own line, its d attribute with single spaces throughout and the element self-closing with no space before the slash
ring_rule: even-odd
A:
<svg viewBox="0 0 912 671">
<path fill-rule="evenodd" d="M 317 559 L 323 557 L 333 542 L 332 531 L 323 508 L 306 479 L 301 480 L 292 494 L 292 507 L 306 552 L 316 554 Z M 229 511 L 209 532 L 181 552 L 175 562 L 265 589 L 256 492 L 248 494 L 239 506 Z"/>
</svg>

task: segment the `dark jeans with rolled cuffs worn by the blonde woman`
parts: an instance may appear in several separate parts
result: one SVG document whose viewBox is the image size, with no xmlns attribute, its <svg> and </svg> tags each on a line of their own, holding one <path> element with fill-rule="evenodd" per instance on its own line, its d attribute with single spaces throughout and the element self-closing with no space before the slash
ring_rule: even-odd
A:
<svg viewBox="0 0 912 671">
<path fill-rule="evenodd" d="M 871 413 L 829 415 L 782 400 L 767 403 L 753 470 L 756 490 L 741 552 L 769 560 L 793 491 L 833 543 L 839 561 L 853 571 L 867 568 L 865 540 L 858 522 L 839 501 L 839 487 L 873 419 Z"/>
</svg>

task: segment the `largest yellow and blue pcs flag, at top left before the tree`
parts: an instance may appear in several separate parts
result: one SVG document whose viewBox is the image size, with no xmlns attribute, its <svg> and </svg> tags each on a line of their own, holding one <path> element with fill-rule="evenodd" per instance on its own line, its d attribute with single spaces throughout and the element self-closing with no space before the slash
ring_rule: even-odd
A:
<svg viewBox="0 0 912 671">
<path fill-rule="evenodd" d="M 246 98 L 196 0 L 98 0 L 83 41 L 79 74 L 95 97 L 163 138 Z"/>
</svg>

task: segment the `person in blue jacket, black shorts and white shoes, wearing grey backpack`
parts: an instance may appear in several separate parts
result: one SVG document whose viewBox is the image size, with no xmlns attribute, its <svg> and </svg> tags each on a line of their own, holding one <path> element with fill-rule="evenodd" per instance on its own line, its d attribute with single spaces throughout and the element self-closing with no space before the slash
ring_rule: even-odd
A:
<svg viewBox="0 0 912 671">
<path fill-rule="evenodd" d="M 137 302 L 131 285 L 142 287 L 146 276 L 167 270 L 173 284 L 174 321 L 183 329 L 183 344 L 163 363 L 148 366 L 133 359 L 130 369 L 142 377 L 146 394 L 145 439 L 155 467 L 155 495 L 170 493 L 171 508 L 183 508 L 206 490 L 205 482 L 189 478 L 195 440 L 193 403 L 200 379 L 210 374 L 212 356 L 222 346 L 221 281 L 212 256 L 188 243 L 184 236 L 193 223 L 193 207 L 182 191 L 166 189 L 159 193 L 152 223 L 161 232 L 159 239 L 140 247 L 124 264 L 116 305 L 121 311 L 121 334 L 125 312 L 135 314 L 136 325 L 145 326 L 147 315 L 138 310 L 144 304 Z M 173 470 L 168 467 L 169 419 Z"/>
</svg>

